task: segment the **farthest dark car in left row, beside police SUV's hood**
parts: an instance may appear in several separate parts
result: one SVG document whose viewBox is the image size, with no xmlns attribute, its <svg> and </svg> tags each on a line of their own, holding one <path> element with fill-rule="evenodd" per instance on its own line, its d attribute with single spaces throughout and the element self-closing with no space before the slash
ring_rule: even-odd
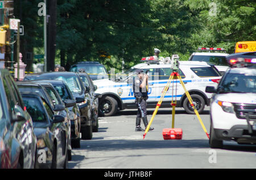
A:
<svg viewBox="0 0 256 180">
<path fill-rule="evenodd" d="M 79 72 L 81 68 L 84 69 L 84 71 L 90 76 L 92 80 L 109 78 L 105 66 L 96 61 L 79 62 L 75 65 L 72 65 L 69 71 Z"/>
</svg>

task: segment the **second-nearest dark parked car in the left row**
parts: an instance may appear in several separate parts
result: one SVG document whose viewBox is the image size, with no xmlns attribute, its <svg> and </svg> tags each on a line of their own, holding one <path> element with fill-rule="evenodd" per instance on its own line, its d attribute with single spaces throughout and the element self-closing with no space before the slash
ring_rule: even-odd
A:
<svg viewBox="0 0 256 180">
<path fill-rule="evenodd" d="M 36 168 L 68 168 L 65 118 L 54 115 L 46 100 L 36 93 L 22 93 L 22 98 L 38 140 Z"/>
</svg>

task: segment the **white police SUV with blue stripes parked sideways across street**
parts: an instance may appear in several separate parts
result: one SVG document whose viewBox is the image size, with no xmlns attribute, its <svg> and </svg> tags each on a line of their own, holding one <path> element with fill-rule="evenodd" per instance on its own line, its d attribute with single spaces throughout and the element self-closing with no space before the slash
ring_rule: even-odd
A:
<svg viewBox="0 0 256 180">
<path fill-rule="evenodd" d="M 207 85 L 217 87 L 221 74 L 206 62 L 179 61 L 179 64 L 179 75 L 192 97 L 193 104 L 201 113 L 205 105 L 209 105 L 209 99 L 212 96 L 205 92 L 205 87 Z M 147 108 L 155 108 L 172 72 L 170 61 L 147 61 L 131 67 L 123 74 L 114 76 L 114 78 L 94 80 L 93 83 L 97 85 L 96 93 L 102 95 L 99 100 L 100 115 L 110 116 L 117 113 L 117 110 L 137 108 L 134 102 L 133 77 L 136 76 L 135 71 L 138 68 L 143 69 L 144 72 L 148 71 Z M 189 104 L 179 80 L 173 80 L 173 82 L 175 87 L 177 83 L 177 91 L 172 91 L 170 87 L 160 108 L 171 107 L 172 99 L 176 98 L 177 107 L 183 107 L 185 112 L 193 114 L 193 107 Z"/>
</svg>

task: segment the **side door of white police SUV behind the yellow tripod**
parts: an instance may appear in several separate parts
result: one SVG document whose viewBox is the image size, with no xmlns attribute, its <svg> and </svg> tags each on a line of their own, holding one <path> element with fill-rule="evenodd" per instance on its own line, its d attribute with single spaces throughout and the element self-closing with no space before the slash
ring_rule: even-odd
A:
<svg viewBox="0 0 256 180">
<path fill-rule="evenodd" d="M 156 83 L 155 91 L 158 92 L 158 95 L 156 97 L 156 101 L 160 100 L 160 97 L 163 93 L 163 90 L 166 87 L 168 79 L 170 78 L 170 75 L 172 73 L 172 70 L 171 70 L 170 67 L 161 67 L 161 68 L 158 69 L 158 73 L 159 73 L 159 80 L 158 80 L 158 82 L 155 82 Z M 181 76 L 181 79 L 184 80 L 185 75 L 183 74 L 183 72 L 181 70 L 179 70 L 179 74 Z M 172 85 L 173 85 L 172 82 L 174 82 L 175 91 L 172 91 Z M 171 82 L 171 84 L 168 88 L 168 91 L 166 92 L 166 95 L 164 96 L 164 99 L 163 99 L 163 102 L 162 102 L 162 105 L 161 105 L 162 107 L 163 106 L 166 106 L 166 107 L 171 106 L 170 104 L 171 104 L 172 98 L 174 100 L 176 98 L 176 100 L 179 101 L 181 96 L 185 92 L 182 85 L 179 82 L 179 79 L 177 79 L 177 80 L 174 79 L 174 80 L 172 80 L 172 82 Z M 186 83 L 185 80 L 184 80 L 184 83 Z M 177 91 L 176 91 L 176 84 L 177 84 Z"/>
</svg>

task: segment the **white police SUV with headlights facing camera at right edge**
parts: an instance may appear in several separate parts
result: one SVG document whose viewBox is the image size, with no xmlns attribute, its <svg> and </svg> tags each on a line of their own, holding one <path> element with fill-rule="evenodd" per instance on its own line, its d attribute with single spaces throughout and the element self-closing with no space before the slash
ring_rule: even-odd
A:
<svg viewBox="0 0 256 180">
<path fill-rule="evenodd" d="M 221 148 L 223 140 L 256 143 L 256 52 L 226 57 L 230 68 L 210 101 L 211 148 Z"/>
</svg>

